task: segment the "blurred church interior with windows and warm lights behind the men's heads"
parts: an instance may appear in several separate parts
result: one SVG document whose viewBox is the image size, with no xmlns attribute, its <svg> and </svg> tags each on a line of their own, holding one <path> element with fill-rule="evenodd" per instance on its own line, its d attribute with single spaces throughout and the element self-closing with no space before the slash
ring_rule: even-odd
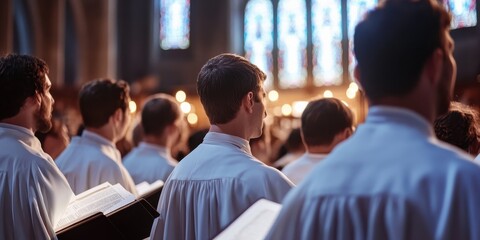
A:
<svg viewBox="0 0 480 240">
<path fill-rule="evenodd" d="M 104 77 L 129 82 L 138 108 L 152 93 L 178 93 L 189 128 L 206 128 L 195 89 L 201 66 L 220 53 L 246 56 L 268 75 L 266 122 L 284 139 L 312 98 L 337 97 L 358 123 L 365 118 L 351 39 L 377 1 L 320 2 L 4 0 L 0 52 L 32 54 L 49 64 L 55 108 L 66 114 L 71 134 L 81 123 L 79 87 Z M 460 98 L 464 89 L 480 89 L 478 6 L 446 2 L 452 8 L 469 3 L 451 30 Z M 476 93 L 470 95 L 469 103 L 480 104 Z"/>
</svg>

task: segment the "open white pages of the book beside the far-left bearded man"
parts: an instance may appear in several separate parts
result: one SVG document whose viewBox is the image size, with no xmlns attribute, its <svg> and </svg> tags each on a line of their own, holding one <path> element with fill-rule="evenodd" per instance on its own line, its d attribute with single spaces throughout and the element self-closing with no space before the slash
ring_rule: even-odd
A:
<svg viewBox="0 0 480 240">
<path fill-rule="evenodd" d="M 108 182 L 103 183 L 75 196 L 55 229 L 71 225 L 92 213 L 102 212 L 106 215 L 134 200 L 135 196 L 119 183 L 113 186 Z"/>
</svg>

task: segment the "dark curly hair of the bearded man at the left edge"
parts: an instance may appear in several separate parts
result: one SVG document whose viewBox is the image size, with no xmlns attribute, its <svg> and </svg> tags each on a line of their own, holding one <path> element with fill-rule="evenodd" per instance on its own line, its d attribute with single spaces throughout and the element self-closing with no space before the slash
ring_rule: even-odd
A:
<svg viewBox="0 0 480 240">
<path fill-rule="evenodd" d="M 0 58 L 0 120 L 18 114 L 25 100 L 44 94 L 47 64 L 36 57 L 8 54 Z"/>
</svg>

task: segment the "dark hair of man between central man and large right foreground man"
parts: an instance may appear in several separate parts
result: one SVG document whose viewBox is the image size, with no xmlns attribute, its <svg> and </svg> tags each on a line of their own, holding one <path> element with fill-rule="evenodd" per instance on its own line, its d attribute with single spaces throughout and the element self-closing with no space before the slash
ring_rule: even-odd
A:
<svg viewBox="0 0 480 240">
<path fill-rule="evenodd" d="M 301 129 L 307 146 L 330 144 L 335 135 L 352 126 L 352 111 L 336 98 L 313 100 L 302 114 Z"/>
</svg>

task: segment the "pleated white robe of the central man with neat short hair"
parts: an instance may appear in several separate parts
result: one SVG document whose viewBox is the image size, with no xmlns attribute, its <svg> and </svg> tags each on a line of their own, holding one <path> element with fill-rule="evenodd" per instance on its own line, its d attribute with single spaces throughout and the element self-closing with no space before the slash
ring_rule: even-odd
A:
<svg viewBox="0 0 480 240">
<path fill-rule="evenodd" d="M 247 140 L 209 132 L 165 183 L 150 237 L 211 239 L 258 199 L 281 202 L 292 186 Z"/>
</svg>

